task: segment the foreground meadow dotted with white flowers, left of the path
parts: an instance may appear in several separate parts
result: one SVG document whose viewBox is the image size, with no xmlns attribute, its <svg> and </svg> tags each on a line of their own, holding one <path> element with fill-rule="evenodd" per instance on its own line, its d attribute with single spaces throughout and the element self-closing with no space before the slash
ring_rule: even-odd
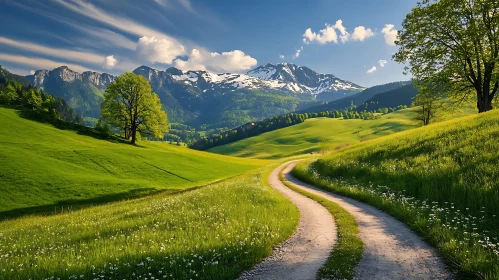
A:
<svg viewBox="0 0 499 280">
<path fill-rule="evenodd" d="M 0 222 L 0 279 L 237 278 L 298 222 L 266 174 Z"/>
</svg>

